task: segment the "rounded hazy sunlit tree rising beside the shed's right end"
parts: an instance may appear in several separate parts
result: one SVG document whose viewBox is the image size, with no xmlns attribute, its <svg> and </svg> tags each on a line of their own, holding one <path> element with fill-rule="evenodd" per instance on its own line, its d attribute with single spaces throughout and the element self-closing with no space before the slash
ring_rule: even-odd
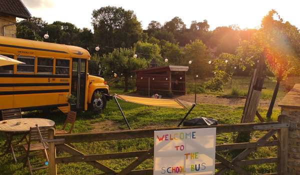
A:
<svg viewBox="0 0 300 175">
<path fill-rule="evenodd" d="M 207 59 L 210 58 L 206 45 L 201 40 L 195 40 L 184 47 L 184 62 L 192 61 L 190 71 L 203 77 L 209 73 Z"/>
</svg>

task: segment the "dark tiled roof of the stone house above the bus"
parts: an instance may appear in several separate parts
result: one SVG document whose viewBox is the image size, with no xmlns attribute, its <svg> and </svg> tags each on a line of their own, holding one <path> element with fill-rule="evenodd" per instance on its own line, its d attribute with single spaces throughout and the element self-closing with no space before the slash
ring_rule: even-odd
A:
<svg viewBox="0 0 300 175">
<path fill-rule="evenodd" d="M 0 0 L 0 13 L 28 19 L 30 12 L 21 0 Z"/>
</svg>

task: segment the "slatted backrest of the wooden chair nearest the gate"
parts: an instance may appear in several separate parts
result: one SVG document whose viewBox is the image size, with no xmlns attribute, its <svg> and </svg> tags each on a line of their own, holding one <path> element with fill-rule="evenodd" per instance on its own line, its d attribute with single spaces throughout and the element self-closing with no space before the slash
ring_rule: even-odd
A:
<svg viewBox="0 0 300 175">
<path fill-rule="evenodd" d="M 50 127 L 51 126 L 30 127 L 30 130 L 29 130 L 29 142 L 31 142 L 31 141 L 39 141 L 39 142 L 41 142 L 42 139 L 48 138 L 48 129 Z"/>
</svg>

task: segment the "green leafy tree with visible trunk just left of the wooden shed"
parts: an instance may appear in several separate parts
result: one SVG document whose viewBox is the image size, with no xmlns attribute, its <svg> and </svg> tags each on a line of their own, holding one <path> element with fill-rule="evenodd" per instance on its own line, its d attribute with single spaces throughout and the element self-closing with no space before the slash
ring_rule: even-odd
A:
<svg viewBox="0 0 300 175">
<path fill-rule="evenodd" d="M 118 76 L 124 76 L 124 91 L 128 91 L 128 78 L 131 71 L 135 69 L 145 68 L 147 61 L 144 58 L 134 58 L 135 50 L 132 48 L 113 49 L 111 53 L 103 55 L 104 64 L 107 69 L 106 74 L 112 74 L 112 71 Z"/>
</svg>

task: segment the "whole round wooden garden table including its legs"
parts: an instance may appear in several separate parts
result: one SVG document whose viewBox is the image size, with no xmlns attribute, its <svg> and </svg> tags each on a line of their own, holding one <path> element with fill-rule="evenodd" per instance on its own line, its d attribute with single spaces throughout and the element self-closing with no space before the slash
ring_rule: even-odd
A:
<svg viewBox="0 0 300 175">
<path fill-rule="evenodd" d="M 17 122 L 20 122 L 20 124 L 16 124 Z M 55 122 L 45 118 L 15 118 L 15 119 L 7 119 L 7 120 L 0 121 L 0 131 L 5 132 L 7 137 L 4 143 L 4 145 L 5 144 L 7 145 L 7 148 L 3 154 L 9 152 L 10 149 L 14 161 L 17 162 L 11 144 L 12 137 L 14 134 L 24 132 L 24 136 L 20 140 L 22 141 L 26 136 L 26 132 L 29 132 L 30 127 L 36 127 L 35 124 L 37 124 L 38 126 L 54 126 Z"/>
</svg>

